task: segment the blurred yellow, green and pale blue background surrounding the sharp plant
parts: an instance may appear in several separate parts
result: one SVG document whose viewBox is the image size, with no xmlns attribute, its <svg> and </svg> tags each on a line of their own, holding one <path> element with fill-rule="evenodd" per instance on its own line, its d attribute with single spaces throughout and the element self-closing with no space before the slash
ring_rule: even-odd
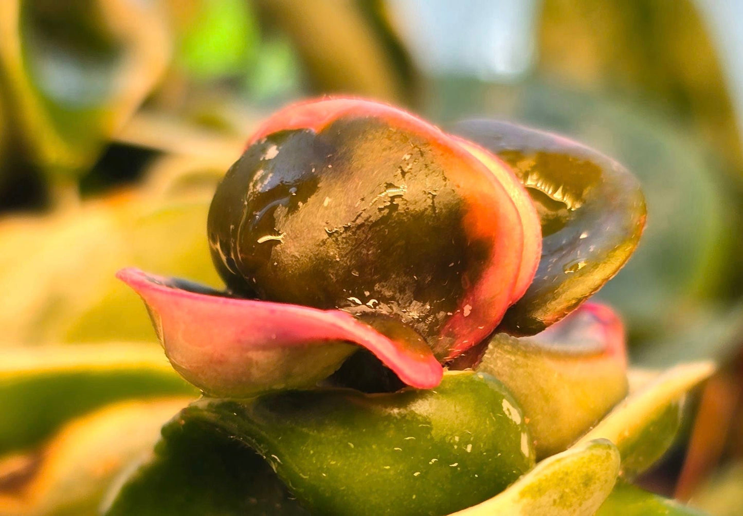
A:
<svg viewBox="0 0 743 516">
<path fill-rule="evenodd" d="M 640 177 L 646 233 L 600 297 L 635 365 L 721 364 L 641 483 L 743 515 L 742 22 L 736 0 L 0 0 L 0 512 L 92 513 L 149 439 L 126 422 L 196 395 L 114 272 L 219 287 L 221 174 L 273 109 L 343 93 L 552 129 Z"/>
</svg>

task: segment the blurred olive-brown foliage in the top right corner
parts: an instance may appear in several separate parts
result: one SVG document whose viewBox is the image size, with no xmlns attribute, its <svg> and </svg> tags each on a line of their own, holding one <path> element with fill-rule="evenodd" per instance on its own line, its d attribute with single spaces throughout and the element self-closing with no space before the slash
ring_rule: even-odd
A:
<svg viewBox="0 0 743 516">
<path fill-rule="evenodd" d="M 741 133 L 701 15 L 692 0 L 545 0 L 539 69 L 586 91 L 629 93 L 687 117 L 740 173 Z"/>
</svg>

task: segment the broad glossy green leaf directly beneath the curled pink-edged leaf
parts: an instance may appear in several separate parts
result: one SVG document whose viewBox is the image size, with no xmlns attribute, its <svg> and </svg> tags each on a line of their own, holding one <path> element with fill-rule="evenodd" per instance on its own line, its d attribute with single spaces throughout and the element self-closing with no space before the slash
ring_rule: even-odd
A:
<svg viewBox="0 0 743 516">
<path fill-rule="evenodd" d="M 156 486 L 169 486 L 163 475 L 176 460 L 166 453 L 169 437 L 192 424 L 258 451 L 314 514 L 444 515 L 492 497 L 534 464 L 516 401 L 484 373 L 446 373 L 429 391 L 326 389 L 203 399 L 166 427 L 160 456 L 125 484 L 109 515 L 149 510 L 149 500 L 160 496 Z M 220 478 L 224 471 L 213 474 Z M 212 489 L 209 481 L 204 491 L 194 486 L 186 495 L 201 503 L 201 514 L 217 510 L 204 505 Z M 240 493 L 230 494 L 233 503 Z"/>
</svg>

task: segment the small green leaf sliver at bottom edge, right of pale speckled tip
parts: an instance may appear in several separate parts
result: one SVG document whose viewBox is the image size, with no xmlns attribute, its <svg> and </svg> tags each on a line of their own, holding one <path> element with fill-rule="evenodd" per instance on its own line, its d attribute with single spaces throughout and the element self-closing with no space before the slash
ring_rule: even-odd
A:
<svg viewBox="0 0 743 516">
<path fill-rule="evenodd" d="M 704 514 L 675 500 L 618 482 L 596 516 L 704 516 Z"/>
</svg>

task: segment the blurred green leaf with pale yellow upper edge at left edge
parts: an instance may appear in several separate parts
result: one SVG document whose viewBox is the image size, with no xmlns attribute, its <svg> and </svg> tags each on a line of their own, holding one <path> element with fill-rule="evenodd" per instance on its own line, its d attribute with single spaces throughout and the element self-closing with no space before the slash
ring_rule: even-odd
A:
<svg viewBox="0 0 743 516">
<path fill-rule="evenodd" d="M 62 422 L 120 399 L 198 396 L 156 344 L 0 349 L 0 454 L 36 445 Z"/>
</svg>

